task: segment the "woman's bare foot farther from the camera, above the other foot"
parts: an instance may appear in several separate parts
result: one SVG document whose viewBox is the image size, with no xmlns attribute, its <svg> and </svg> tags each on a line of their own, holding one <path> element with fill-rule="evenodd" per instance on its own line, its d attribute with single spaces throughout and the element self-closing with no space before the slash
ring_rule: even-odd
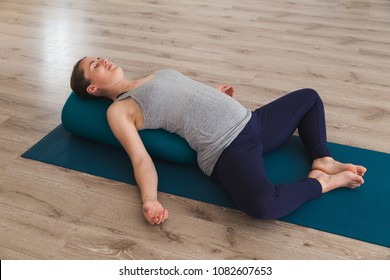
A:
<svg viewBox="0 0 390 280">
<path fill-rule="evenodd" d="M 321 170 L 326 174 L 333 175 L 343 171 L 350 171 L 359 176 L 363 176 L 367 169 L 364 166 L 351 163 L 341 163 L 331 157 L 318 158 L 313 161 L 312 169 Z"/>
</svg>

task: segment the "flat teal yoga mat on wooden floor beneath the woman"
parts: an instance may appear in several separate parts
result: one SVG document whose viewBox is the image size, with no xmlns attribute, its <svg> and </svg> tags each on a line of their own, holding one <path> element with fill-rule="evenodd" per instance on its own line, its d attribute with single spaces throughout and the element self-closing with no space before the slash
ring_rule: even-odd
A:
<svg viewBox="0 0 390 280">
<path fill-rule="evenodd" d="M 281 220 L 390 247 L 390 154 L 329 143 L 333 156 L 365 165 L 365 184 L 338 189 L 304 204 Z M 89 174 L 135 184 L 131 162 L 121 148 L 69 134 L 62 125 L 22 157 Z M 274 183 L 296 181 L 310 170 L 305 148 L 292 137 L 278 150 L 265 155 L 268 176 Z M 197 165 L 155 160 L 159 191 L 229 208 L 230 196 L 205 176 Z"/>
</svg>

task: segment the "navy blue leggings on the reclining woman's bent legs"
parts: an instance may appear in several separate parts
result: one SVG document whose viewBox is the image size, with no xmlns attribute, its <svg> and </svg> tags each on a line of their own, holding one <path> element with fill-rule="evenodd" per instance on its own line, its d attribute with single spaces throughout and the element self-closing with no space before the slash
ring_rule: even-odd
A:
<svg viewBox="0 0 390 280">
<path fill-rule="evenodd" d="M 273 185 L 266 175 L 263 154 L 286 142 L 296 129 L 312 160 L 330 156 L 321 98 L 312 89 L 302 89 L 255 110 L 218 159 L 211 177 L 248 215 L 279 218 L 320 197 L 322 187 L 316 179 Z"/>
</svg>

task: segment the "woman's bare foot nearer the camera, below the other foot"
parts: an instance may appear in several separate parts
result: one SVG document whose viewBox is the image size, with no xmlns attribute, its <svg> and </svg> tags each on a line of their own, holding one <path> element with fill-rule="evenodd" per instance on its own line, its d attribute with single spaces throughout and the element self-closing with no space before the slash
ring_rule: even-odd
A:
<svg viewBox="0 0 390 280">
<path fill-rule="evenodd" d="M 341 187 L 354 189 L 364 183 L 364 180 L 360 175 L 351 171 L 342 171 L 337 174 L 329 175 L 320 170 L 312 170 L 308 177 L 317 179 L 320 182 L 322 186 L 322 193 Z"/>
</svg>

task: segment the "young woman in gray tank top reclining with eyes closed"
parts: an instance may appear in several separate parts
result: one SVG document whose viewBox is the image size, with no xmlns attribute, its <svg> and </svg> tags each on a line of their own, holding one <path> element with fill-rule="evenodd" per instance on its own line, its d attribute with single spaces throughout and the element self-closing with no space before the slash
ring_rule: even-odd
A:
<svg viewBox="0 0 390 280">
<path fill-rule="evenodd" d="M 96 57 L 76 63 L 71 87 L 86 98 L 114 101 L 108 122 L 131 159 L 142 212 L 150 224 L 164 222 L 168 211 L 157 199 L 157 173 L 138 134 L 141 129 L 163 128 L 186 139 L 202 171 L 220 183 L 242 211 L 259 219 L 285 216 L 322 193 L 364 182 L 365 167 L 331 157 L 323 103 L 312 89 L 292 92 L 251 112 L 228 96 L 233 87 L 214 89 L 174 70 L 129 81 L 122 68 Z M 299 182 L 273 185 L 262 156 L 296 129 L 313 161 L 312 171 Z"/>
</svg>

